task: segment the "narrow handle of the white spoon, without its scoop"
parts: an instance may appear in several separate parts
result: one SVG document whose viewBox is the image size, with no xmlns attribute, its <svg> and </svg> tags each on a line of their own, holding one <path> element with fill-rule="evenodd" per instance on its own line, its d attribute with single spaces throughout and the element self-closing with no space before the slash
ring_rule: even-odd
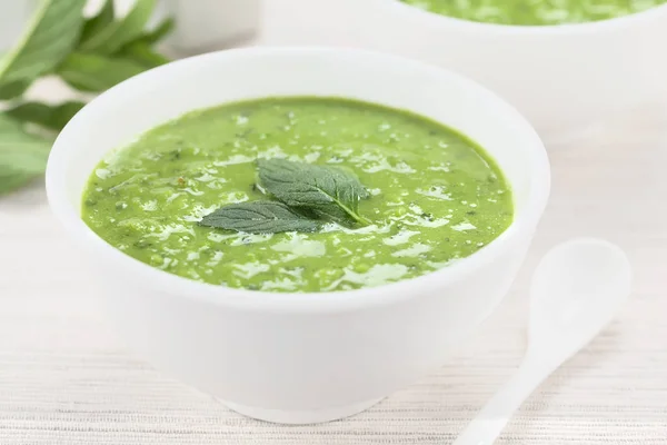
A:
<svg viewBox="0 0 667 445">
<path fill-rule="evenodd" d="M 526 357 L 507 382 L 452 445 L 491 445 L 524 400 L 551 374 L 554 367 Z"/>
</svg>

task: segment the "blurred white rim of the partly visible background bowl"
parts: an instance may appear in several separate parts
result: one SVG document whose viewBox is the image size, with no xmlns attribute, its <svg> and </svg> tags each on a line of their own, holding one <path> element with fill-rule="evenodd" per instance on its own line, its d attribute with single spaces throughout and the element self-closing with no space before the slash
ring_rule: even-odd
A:
<svg viewBox="0 0 667 445">
<path fill-rule="evenodd" d="M 561 34 L 589 34 L 600 31 L 613 31 L 634 22 L 648 20 L 659 14 L 667 14 L 667 3 L 657 4 L 646 11 L 635 12 L 627 16 L 615 17 L 606 20 L 587 21 L 581 23 L 561 23 L 561 24 L 502 24 L 485 23 L 472 20 L 459 19 L 456 17 L 444 16 L 426 9 L 405 3 L 401 0 L 380 0 L 390 8 L 396 8 L 401 14 L 412 14 L 415 18 L 428 20 L 432 23 L 446 23 L 447 26 L 460 30 L 472 32 L 488 32 L 502 36 L 561 36 Z"/>
</svg>

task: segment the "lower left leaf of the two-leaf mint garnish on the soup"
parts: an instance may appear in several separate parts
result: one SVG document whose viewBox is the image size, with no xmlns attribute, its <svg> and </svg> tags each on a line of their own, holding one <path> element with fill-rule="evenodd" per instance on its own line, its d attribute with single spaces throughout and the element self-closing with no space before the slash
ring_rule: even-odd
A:
<svg viewBox="0 0 667 445">
<path fill-rule="evenodd" d="M 319 227 L 316 220 L 276 201 L 232 204 L 205 216 L 199 225 L 248 234 L 315 231 Z"/>
</svg>

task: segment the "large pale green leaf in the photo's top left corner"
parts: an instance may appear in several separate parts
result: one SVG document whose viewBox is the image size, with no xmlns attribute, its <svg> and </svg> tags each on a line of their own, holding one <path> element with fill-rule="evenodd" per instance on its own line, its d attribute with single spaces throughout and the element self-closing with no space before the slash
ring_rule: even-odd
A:
<svg viewBox="0 0 667 445">
<path fill-rule="evenodd" d="M 28 30 L 0 60 L 0 83 L 26 82 L 51 71 L 74 47 L 86 0 L 42 0 Z"/>
</svg>

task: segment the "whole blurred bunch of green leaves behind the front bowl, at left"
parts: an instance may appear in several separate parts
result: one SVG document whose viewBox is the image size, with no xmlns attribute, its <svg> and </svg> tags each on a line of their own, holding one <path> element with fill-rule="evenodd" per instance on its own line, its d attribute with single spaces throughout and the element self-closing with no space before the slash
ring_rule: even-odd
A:
<svg viewBox="0 0 667 445">
<path fill-rule="evenodd" d="M 43 174 L 57 132 L 84 105 L 28 101 L 23 95 L 36 80 L 54 75 L 79 91 L 101 92 L 169 61 L 153 46 L 172 20 L 146 30 L 156 0 L 137 0 L 122 18 L 113 0 L 91 18 L 83 17 L 84 3 L 41 0 L 19 43 L 0 58 L 0 194 Z"/>
</svg>

